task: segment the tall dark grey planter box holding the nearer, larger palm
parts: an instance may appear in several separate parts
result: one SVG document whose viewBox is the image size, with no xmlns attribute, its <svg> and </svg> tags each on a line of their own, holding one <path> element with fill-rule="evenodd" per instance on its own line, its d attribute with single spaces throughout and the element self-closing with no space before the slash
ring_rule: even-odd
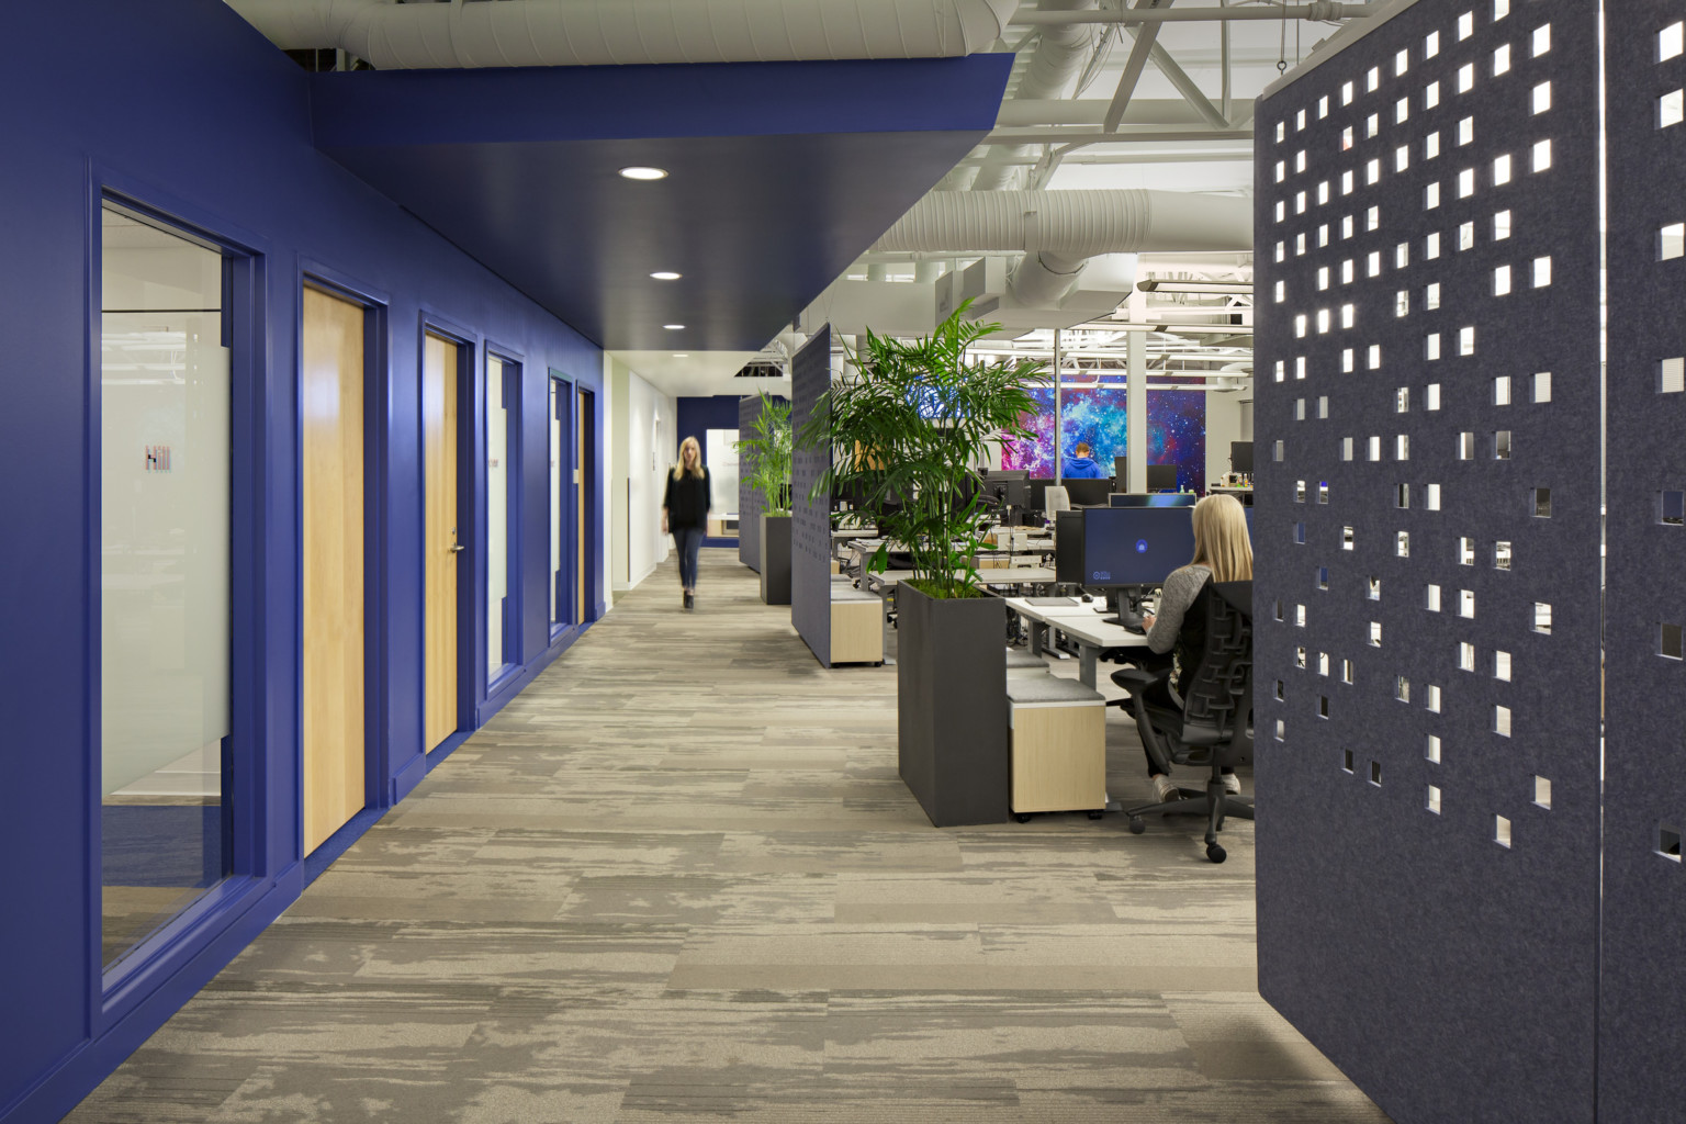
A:
<svg viewBox="0 0 1686 1124">
<path fill-rule="evenodd" d="M 1007 607 L 895 586 L 897 765 L 937 827 L 1008 817 Z"/>
</svg>

